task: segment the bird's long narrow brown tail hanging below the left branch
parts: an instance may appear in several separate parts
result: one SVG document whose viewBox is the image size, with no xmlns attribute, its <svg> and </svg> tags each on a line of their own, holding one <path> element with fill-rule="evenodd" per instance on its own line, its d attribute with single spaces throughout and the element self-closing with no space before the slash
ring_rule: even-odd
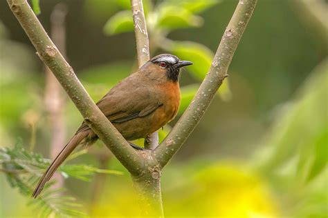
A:
<svg viewBox="0 0 328 218">
<path fill-rule="evenodd" d="M 78 132 L 76 135 L 74 135 L 69 143 L 66 144 L 66 146 L 62 149 L 62 151 L 57 155 L 57 157 L 53 160 L 53 163 L 48 167 L 46 172 L 44 172 L 44 175 L 40 179 L 39 183 L 37 184 L 37 187 L 35 188 L 32 197 L 36 198 L 44 189 L 44 185 L 46 182 L 51 179 L 57 168 L 60 167 L 62 162 L 69 157 L 71 152 L 78 146 L 81 141 L 86 137 L 86 135 L 89 134 L 89 131 L 83 131 Z"/>
</svg>

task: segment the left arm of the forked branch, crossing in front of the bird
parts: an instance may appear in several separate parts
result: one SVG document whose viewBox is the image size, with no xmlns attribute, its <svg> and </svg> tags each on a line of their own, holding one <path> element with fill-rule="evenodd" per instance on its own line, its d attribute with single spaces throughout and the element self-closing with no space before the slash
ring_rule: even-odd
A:
<svg viewBox="0 0 328 218">
<path fill-rule="evenodd" d="M 21 24 L 28 38 L 37 50 L 40 59 L 51 69 L 60 81 L 84 120 L 96 135 L 113 152 L 132 175 L 139 175 L 144 170 L 143 157 L 129 146 L 129 143 L 114 128 L 86 92 L 73 68 L 69 66 L 53 41 L 48 37 L 41 23 L 26 0 L 7 0 L 10 9 Z"/>
</svg>

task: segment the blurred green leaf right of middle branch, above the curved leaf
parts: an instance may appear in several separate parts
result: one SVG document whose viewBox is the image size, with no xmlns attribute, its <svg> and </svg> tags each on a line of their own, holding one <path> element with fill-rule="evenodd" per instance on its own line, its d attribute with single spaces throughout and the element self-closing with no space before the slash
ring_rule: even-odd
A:
<svg viewBox="0 0 328 218">
<path fill-rule="evenodd" d="M 157 28 L 165 30 L 199 27 L 203 24 L 203 18 L 192 14 L 185 8 L 167 3 L 162 3 L 158 6 L 155 14 L 157 16 Z"/>
</svg>

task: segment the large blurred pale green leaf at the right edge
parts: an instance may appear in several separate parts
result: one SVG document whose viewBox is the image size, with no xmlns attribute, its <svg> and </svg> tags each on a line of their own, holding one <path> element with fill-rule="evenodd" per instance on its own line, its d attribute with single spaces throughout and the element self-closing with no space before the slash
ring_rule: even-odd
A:
<svg viewBox="0 0 328 218">
<path fill-rule="evenodd" d="M 262 157 L 263 163 L 260 157 L 253 158 L 261 163 L 262 171 L 282 171 L 296 159 L 292 166 L 294 180 L 304 185 L 304 181 L 317 177 L 325 168 L 327 155 L 322 154 L 327 154 L 327 69 L 325 60 L 311 72 L 297 97 L 277 113 L 273 129 L 263 139 L 271 152 Z"/>
</svg>

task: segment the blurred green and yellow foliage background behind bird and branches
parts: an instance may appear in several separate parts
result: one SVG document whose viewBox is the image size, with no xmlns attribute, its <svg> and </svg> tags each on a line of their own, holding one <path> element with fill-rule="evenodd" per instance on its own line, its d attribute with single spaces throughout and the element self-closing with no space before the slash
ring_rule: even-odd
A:
<svg viewBox="0 0 328 218">
<path fill-rule="evenodd" d="M 66 55 L 98 101 L 136 69 L 129 1 L 40 1 L 39 19 L 66 3 Z M 181 73 L 188 106 L 206 74 L 238 1 L 144 1 L 152 56 L 170 52 L 194 61 Z M 257 3 L 219 90 L 197 128 L 163 171 L 167 217 L 327 217 L 327 1 Z M 132 31 L 131 31 L 132 30 Z M 44 66 L 26 34 L 0 2 L 0 147 L 49 158 L 51 123 L 44 106 Z M 66 140 L 82 117 L 64 97 Z M 159 130 L 167 134 L 179 116 Z M 35 141 L 35 142 L 33 142 Z M 138 141 L 137 143 L 142 143 Z M 64 145 L 63 145 L 64 146 Z M 69 178 L 65 186 L 91 217 L 133 216 L 128 173 L 101 142 L 74 160 L 124 175 Z M 28 197 L 0 172 L 0 217 L 32 217 Z"/>
</svg>

